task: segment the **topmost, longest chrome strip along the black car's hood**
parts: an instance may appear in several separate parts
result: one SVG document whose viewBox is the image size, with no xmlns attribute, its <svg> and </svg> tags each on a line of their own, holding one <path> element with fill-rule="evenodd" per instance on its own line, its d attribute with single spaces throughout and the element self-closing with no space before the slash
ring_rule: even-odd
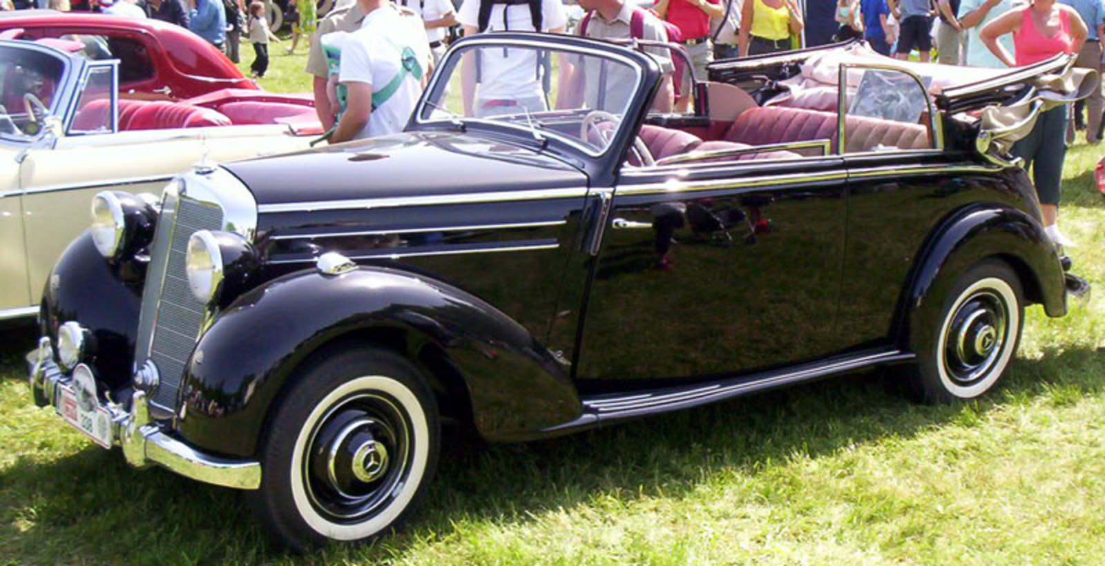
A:
<svg viewBox="0 0 1105 566">
<path fill-rule="evenodd" d="M 569 199 L 583 198 L 586 196 L 587 187 L 573 187 L 565 189 L 474 192 L 466 195 L 427 195 L 422 197 L 281 202 L 260 205 L 257 206 L 257 212 L 266 214 L 275 212 L 313 212 L 316 210 L 371 210 L 397 207 L 431 207 L 436 205 L 478 205 L 484 202 L 509 202 L 512 200 Z"/>
</svg>

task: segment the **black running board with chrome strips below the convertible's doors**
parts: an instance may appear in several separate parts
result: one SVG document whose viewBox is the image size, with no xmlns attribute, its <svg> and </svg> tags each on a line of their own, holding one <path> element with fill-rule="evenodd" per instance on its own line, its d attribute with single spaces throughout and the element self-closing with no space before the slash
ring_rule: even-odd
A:
<svg viewBox="0 0 1105 566">
<path fill-rule="evenodd" d="M 622 419 L 632 419 L 659 412 L 690 409 L 723 399 L 739 397 L 755 391 L 775 389 L 788 385 L 811 381 L 835 374 L 855 371 L 870 366 L 901 363 L 914 359 L 912 353 L 899 350 L 865 353 L 829 363 L 807 364 L 797 367 L 778 369 L 741 376 L 729 379 L 718 379 L 693 386 L 671 387 L 649 392 L 614 394 L 585 397 L 580 399 L 583 413 L 579 418 L 564 424 L 543 430 L 544 434 L 560 434 L 580 428 Z M 543 434 L 543 436 L 544 436 Z"/>
</svg>

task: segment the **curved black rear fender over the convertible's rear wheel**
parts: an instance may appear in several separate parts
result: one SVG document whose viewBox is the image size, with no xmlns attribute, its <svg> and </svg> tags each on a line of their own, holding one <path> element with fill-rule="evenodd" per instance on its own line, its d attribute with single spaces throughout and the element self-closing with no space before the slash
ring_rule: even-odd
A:
<svg viewBox="0 0 1105 566">
<path fill-rule="evenodd" d="M 971 265 L 998 258 L 1021 279 L 1025 298 L 1041 303 L 1048 316 L 1066 314 L 1063 268 L 1043 227 L 1028 213 L 1004 205 L 981 205 L 955 212 L 925 247 L 899 305 L 899 336 L 906 348 L 926 352 L 932 333 L 909 335 L 907 328 L 934 328 L 939 308 L 956 276 Z M 918 324 L 909 324 L 916 321 Z"/>
</svg>

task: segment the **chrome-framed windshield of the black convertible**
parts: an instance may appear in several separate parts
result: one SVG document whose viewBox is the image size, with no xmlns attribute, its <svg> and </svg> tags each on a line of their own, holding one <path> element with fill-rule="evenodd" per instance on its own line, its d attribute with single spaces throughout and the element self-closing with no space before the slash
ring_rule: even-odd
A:
<svg viewBox="0 0 1105 566">
<path fill-rule="evenodd" d="M 593 155 L 610 145 L 641 86 L 641 72 L 628 60 L 560 46 L 466 45 L 444 65 L 420 122 L 509 125 Z"/>
</svg>

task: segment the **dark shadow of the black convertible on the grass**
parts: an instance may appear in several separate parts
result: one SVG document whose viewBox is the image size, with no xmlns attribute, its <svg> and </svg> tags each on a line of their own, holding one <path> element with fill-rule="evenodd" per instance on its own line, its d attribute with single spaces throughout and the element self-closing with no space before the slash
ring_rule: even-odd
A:
<svg viewBox="0 0 1105 566">
<path fill-rule="evenodd" d="M 3 375 L 11 376 L 10 357 L 3 359 Z M 366 546 L 326 548 L 315 559 L 394 559 L 466 523 L 509 526 L 608 499 L 678 499 L 712 478 L 755 475 L 796 454 L 815 459 L 908 438 L 1009 403 L 1073 402 L 1099 390 L 1103 370 L 1099 350 L 1075 348 L 1015 360 L 1002 384 L 972 403 L 913 405 L 886 392 L 901 376 L 888 369 L 528 444 L 487 446 L 446 430 L 438 476 L 399 532 Z M 0 470 L 0 555 L 35 563 L 292 559 L 266 542 L 233 490 L 134 470 L 118 449 L 90 443 L 52 455 L 49 433 L 42 442 Z"/>
</svg>

